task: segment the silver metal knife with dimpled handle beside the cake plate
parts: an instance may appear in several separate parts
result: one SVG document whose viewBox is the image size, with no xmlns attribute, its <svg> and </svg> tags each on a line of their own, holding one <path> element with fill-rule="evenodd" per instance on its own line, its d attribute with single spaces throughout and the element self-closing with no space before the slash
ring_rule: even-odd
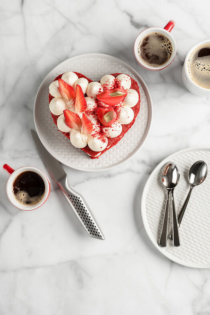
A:
<svg viewBox="0 0 210 315">
<path fill-rule="evenodd" d="M 45 149 L 37 133 L 33 129 L 31 129 L 31 134 L 39 153 L 44 159 L 44 162 L 50 169 L 50 172 L 55 178 L 58 186 L 61 188 L 70 207 L 84 227 L 85 231 L 93 238 L 105 239 L 85 199 L 69 186 L 67 174 L 62 168 L 60 162 L 52 157 L 52 155 Z"/>
</svg>

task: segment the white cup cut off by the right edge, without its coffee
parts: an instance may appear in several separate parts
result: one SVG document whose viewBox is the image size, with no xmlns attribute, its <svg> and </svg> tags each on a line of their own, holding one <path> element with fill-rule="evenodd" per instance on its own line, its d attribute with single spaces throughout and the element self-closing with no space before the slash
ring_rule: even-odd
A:
<svg viewBox="0 0 210 315">
<path fill-rule="evenodd" d="M 210 44 L 210 39 L 204 40 L 202 42 L 194 45 L 187 53 L 186 58 L 184 60 L 184 65 L 182 67 L 182 81 L 185 87 L 193 94 L 202 96 L 202 95 L 210 95 L 210 89 L 203 88 L 202 86 L 196 84 L 193 79 L 191 79 L 190 74 L 188 72 L 188 60 L 190 55 L 193 53 L 195 49 L 205 44 Z"/>
</svg>

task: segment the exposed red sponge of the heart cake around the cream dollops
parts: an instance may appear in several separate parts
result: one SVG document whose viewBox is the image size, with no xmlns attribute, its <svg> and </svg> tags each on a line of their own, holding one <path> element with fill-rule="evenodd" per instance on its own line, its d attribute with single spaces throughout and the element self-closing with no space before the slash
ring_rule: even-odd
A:
<svg viewBox="0 0 210 315">
<path fill-rule="evenodd" d="M 82 73 L 79 73 L 79 72 L 74 72 L 74 73 L 76 73 L 76 75 L 78 76 L 78 78 L 83 77 L 83 78 L 87 79 L 87 80 L 88 80 L 88 83 L 93 82 L 91 79 L 85 77 Z M 111 75 L 113 75 L 114 77 L 117 77 L 119 74 L 121 74 L 121 73 L 113 73 L 113 74 L 111 74 Z M 62 75 L 63 75 L 63 73 L 60 74 L 59 76 L 57 76 L 54 81 L 60 79 L 60 78 L 62 77 Z M 90 158 L 92 158 L 92 159 L 99 158 L 104 152 L 106 152 L 107 150 L 109 150 L 110 148 L 112 148 L 114 145 L 116 145 L 116 144 L 120 141 L 120 139 L 125 135 L 125 133 L 131 128 L 131 126 L 134 124 L 134 122 L 135 122 L 135 120 L 136 120 L 136 117 L 137 117 L 137 114 L 138 114 L 139 109 L 140 109 L 140 102 L 141 102 L 141 100 L 140 100 L 140 94 L 139 94 L 139 87 L 138 87 L 138 84 L 137 84 L 137 82 L 136 82 L 132 77 L 131 77 L 131 87 L 130 87 L 130 89 L 136 90 L 137 93 L 138 93 L 138 95 L 139 95 L 138 103 L 137 103 L 135 106 L 132 107 L 132 110 L 133 110 L 133 112 L 134 112 L 134 118 L 133 118 L 133 120 L 131 121 L 131 123 L 129 123 L 129 124 L 127 124 L 127 125 L 122 125 L 122 132 L 121 132 L 121 134 L 120 134 L 119 136 L 117 136 L 117 137 L 115 137 L 115 138 L 107 138 L 107 139 L 108 139 L 108 145 L 107 145 L 107 147 L 106 147 L 104 150 L 102 150 L 101 152 L 92 151 L 92 150 L 89 148 L 88 145 L 85 146 L 85 148 L 82 148 L 81 150 L 83 150 L 84 152 L 86 152 L 87 154 L 89 154 L 89 155 L 90 155 Z M 85 95 L 85 96 L 87 96 L 87 95 Z M 54 98 L 54 97 L 53 97 L 52 95 L 50 95 L 50 93 L 49 93 L 49 103 L 50 103 L 50 101 L 51 101 L 53 98 Z M 91 98 L 92 98 L 92 97 L 91 97 Z M 114 107 L 114 110 L 115 110 L 115 111 L 117 110 L 117 108 L 119 108 L 119 106 L 113 106 L 113 107 Z M 112 108 L 112 109 L 113 109 L 113 108 Z M 53 118 L 53 121 L 54 121 L 55 125 L 57 126 L 57 119 L 58 119 L 59 115 L 54 115 L 54 114 L 51 113 L 51 116 L 52 116 L 52 118 Z M 100 123 L 100 124 L 101 124 L 101 123 Z M 60 131 L 60 130 L 59 130 L 59 131 Z M 60 132 L 62 132 L 62 131 L 60 131 Z M 70 139 L 69 133 L 62 132 L 62 134 L 63 134 L 65 137 L 67 137 L 68 139 Z M 102 126 L 101 126 L 101 135 L 103 135 L 103 133 L 102 133 Z M 102 141 L 104 141 L 104 139 L 103 139 Z M 100 155 L 99 155 L 98 157 L 96 157 L 96 155 L 97 155 L 98 153 L 100 153 Z M 129 153 L 129 154 L 130 154 L 130 153 Z"/>
</svg>

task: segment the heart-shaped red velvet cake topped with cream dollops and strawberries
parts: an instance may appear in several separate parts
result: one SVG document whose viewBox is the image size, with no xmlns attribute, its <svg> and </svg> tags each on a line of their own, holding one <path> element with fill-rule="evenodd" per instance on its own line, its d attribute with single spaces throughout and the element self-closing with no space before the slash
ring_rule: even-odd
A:
<svg viewBox="0 0 210 315">
<path fill-rule="evenodd" d="M 93 82 L 78 72 L 60 74 L 49 87 L 58 130 L 91 158 L 109 150 L 131 128 L 140 109 L 137 82 L 124 73 Z"/>
</svg>

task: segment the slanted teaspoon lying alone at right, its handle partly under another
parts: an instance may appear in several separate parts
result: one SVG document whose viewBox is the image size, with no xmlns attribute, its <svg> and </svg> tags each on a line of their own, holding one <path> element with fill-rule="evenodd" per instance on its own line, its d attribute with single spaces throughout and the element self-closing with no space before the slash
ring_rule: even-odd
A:
<svg viewBox="0 0 210 315">
<path fill-rule="evenodd" d="M 188 192 L 187 198 L 185 199 L 183 206 L 181 208 L 181 210 L 179 211 L 178 214 L 178 226 L 180 226 L 181 222 L 182 222 L 182 218 L 184 216 L 184 212 L 187 208 L 188 202 L 190 200 L 190 196 L 191 193 L 193 191 L 193 188 L 195 186 L 200 185 L 206 178 L 208 173 L 208 168 L 207 165 L 204 161 L 197 161 L 195 162 L 188 173 L 188 181 L 190 183 L 190 191 Z M 169 233 L 170 240 L 173 239 L 173 231 L 171 230 L 171 232 Z"/>
</svg>

